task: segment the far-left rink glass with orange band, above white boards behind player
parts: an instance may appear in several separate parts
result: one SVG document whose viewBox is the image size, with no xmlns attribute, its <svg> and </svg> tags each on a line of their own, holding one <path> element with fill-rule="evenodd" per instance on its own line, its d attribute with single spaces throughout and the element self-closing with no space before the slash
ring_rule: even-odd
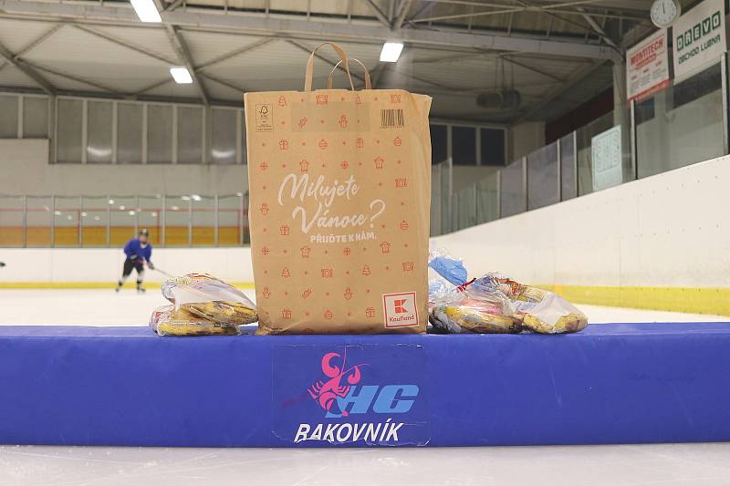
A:
<svg viewBox="0 0 730 486">
<path fill-rule="evenodd" d="M 249 243 L 248 194 L 0 196 L 0 246 L 120 246 L 142 228 L 158 246 Z"/>
</svg>

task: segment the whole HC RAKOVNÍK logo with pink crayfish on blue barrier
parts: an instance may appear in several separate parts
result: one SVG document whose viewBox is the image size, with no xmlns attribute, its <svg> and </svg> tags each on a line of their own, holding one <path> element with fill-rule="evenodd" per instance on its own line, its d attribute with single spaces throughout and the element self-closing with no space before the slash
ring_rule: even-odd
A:
<svg viewBox="0 0 730 486">
<path fill-rule="evenodd" d="M 325 423 L 300 423 L 294 442 L 326 440 L 330 443 L 365 441 L 398 443 L 405 425 L 393 418 L 411 410 L 419 394 L 413 384 L 362 384 L 370 363 L 349 365 L 347 351 L 322 357 L 324 377 L 308 388 L 307 394 L 323 412 Z M 373 420 L 373 417 L 376 419 Z M 354 423 L 359 419 L 368 420 Z M 350 423 L 350 421 L 352 423 Z"/>
</svg>

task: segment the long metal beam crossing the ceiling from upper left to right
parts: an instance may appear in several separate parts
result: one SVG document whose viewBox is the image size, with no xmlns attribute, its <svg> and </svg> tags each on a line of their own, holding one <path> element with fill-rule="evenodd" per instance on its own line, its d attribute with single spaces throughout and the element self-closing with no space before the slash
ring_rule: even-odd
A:
<svg viewBox="0 0 730 486">
<path fill-rule="evenodd" d="M 85 22 L 107 21 L 139 26 L 139 21 L 127 5 L 78 5 L 49 4 L 38 0 L 0 0 L 0 10 L 9 14 L 26 16 L 70 17 Z M 588 57 L 591 59 L 610 59 L 620 62 L 620 55 L 611 47 L 589 45 L 576 42 L 575 39 L 545 40 L 537 36 L 512 35 L 506 33 L 466 32 L 464 29 L 400 29 L 395 32 L 390 28 L 370 22 L 352 22 L 329 19 L 307 20 L 299 16 L 264 16 L 253 13 L 232 13 L 227 15 L 211 13 L 204 9 L 176 10 L 162 12 L 164 23 L 174 26 L 193 26 L 198 28 L 214 28 L 234 30 L 245 33 L 261 33 L 263 35 L 297 36 L 306 35 L 313 38 L 324 36 L 330 39 L 347 41 L 349 39 L 364 40 L 373 44 L 399 37 L 402 41 L 421 46 L 454 46 L 473 47 L 490 50 L 530 52 L 544 55 L 560 55 L 570 57 Z"/>
</svg>

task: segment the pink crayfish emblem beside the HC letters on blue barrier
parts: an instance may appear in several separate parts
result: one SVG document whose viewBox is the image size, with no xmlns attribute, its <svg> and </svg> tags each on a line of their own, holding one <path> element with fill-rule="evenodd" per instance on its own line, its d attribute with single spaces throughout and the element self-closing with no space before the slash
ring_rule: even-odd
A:
<svg viewBox="0 0 730 486">
<path fill-rule="evenodd" d="M 364 363 L 347 367 L 347 352 L 344 357 L 339 353 L 327 353 L 322 357 L 322 373 L 328 379 L 326 381 L 318 379 L 312 384 L 307 390 L 309 397 L 328 413 L 347 417 L 349 415 L 347 410 L 340 412 L 338 409 L 338 398 L 347 397 L 349 389 L 360 383 L 362 378 L 360 367 L 363 366 Z"/>
</svg>

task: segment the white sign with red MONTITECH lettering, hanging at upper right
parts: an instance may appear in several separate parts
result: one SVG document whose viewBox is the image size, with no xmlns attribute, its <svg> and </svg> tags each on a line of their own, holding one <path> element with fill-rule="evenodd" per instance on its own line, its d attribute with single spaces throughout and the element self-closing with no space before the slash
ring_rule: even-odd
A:
<svg viewBox="0 0 730 486">
<path fill-rule="evenodd" d="M 667 30 L 662 29 L 626 52 L 626 87 L 629 101 L 651 96 L 668 85 Z"/>
</svg>

